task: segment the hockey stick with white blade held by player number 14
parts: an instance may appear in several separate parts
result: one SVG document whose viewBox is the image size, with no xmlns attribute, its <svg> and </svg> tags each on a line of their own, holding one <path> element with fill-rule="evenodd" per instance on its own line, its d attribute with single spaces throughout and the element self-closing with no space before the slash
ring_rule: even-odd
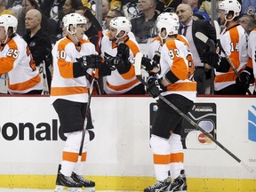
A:
<svg viewBox="0 0 256 192">
<path fill-rule="evenodd" d="M 217 39 L 217 43 L 220 47 L 220 52 L 223 52 L 224 56 L 226 57 L 226 59 L 228 60 L 228 64 L 230 65 L 230 67 L 234 70 L 236 76 L 239 78 L 239 80 L 241 81 L 241 76 L 240 74 L 238 73 L 238 71 L 236 70 L 236 67 L 234 66 L 234 64 L 231 62 L 231 60 L 229 60 L 228 58 L 228 54 L 227 52 L 225 52 L 225 50 L 223 49 L 221 43 L 220 43 L 220 26 L 219 26 L 219 23 L 217 20 L 213 20 L 213 23 L 214 23 L 214 28 L 215 28 L 215 31 L 216 31 L 216 39 Z M 249 89 L 246 90 L 246 92 L 249 94 L 249 95 L 252 95 L 252 92 L 250 92 Z"/>
</svg>

